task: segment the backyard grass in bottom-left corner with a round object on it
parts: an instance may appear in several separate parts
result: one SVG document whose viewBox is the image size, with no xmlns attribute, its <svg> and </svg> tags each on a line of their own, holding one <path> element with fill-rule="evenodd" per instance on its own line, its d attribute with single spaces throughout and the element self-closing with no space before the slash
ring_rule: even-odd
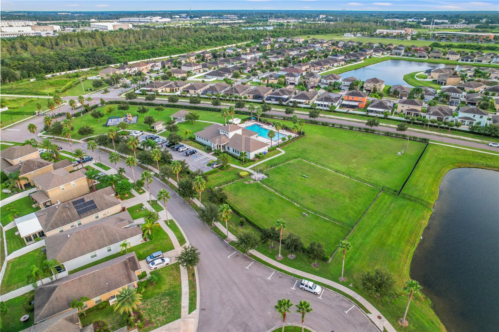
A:
<svg viewBox="0 0 499 332">
<path fill-rule="evenodd" d="M 5 301 L 7 312 L 1 316 L 2 331 L 21 331 L 33 325 L 33 308 L 30 306 L 33 294 L 34 291 L 31 291 Z M 19 321 L 24 315 L 29 315 L 29 319 L 26 322 Z"/>
</svg>

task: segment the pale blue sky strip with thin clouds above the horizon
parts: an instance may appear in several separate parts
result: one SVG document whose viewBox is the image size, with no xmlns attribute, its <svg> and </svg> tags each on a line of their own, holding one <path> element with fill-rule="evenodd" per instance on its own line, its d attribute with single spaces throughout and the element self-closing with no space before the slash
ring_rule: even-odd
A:
<svg viewBox="0 0 499 332">
<path fill-rule="evenodd" d="M 496 10 L 499 0 L 0 0 L 1 10 L 187 10 L 287 9 L 287 10 Z"/>
</svg>

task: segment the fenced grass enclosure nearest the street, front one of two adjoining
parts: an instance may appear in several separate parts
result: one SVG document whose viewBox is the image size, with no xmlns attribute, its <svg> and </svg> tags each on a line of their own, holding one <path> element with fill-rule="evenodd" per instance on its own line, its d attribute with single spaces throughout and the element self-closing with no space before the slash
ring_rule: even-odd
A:
<svg viewBox="0 0 499 332">
<path fill-rule="evenodd" d="M 224 189 L 232 204 L 263 227 L 273 226 L 275 220 L 282 218 L 287 221 L 283 234 L 288 232 L 298 234 L 305 245 L 312 241 L 320 241 L 324 244 L 328 255 L 349 231 L 346 227 L 305 211 L 259 183 L 237 181 L 225 186 Z M 303 212 L 308 213 L 308 216 L 303 215 Z M 239 218 L 236 219 L 238 222 Z"/>
</svg>

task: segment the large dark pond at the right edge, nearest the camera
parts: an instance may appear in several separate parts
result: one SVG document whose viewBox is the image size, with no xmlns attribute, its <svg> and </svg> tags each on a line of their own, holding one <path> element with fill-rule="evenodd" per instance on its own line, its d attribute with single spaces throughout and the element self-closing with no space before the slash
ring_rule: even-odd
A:
<svg viewBox="0 0 499 332">
<path fill-rule="evenodd" d="M 499 172 L 445 175 L 410 274 L 448 331 L 499 331 Z"/>
</svg>

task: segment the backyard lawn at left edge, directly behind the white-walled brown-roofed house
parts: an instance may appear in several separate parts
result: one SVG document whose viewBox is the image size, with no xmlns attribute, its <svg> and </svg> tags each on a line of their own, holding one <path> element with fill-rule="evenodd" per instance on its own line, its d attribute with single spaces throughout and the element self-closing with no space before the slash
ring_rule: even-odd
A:
<svg viewBox="0 0 499 332">
<path fill-rule="evenodd" d="M 41 252 L 41 248 L 25 253 L 7 262 L 5 275 L 1 282 L 0 294 L 5 294 L 19 287 L 26 286 L 27 275 L 31 266 L 41 267 L 42 262 L 47 259 L 47 255 Z"/>
</svg>

